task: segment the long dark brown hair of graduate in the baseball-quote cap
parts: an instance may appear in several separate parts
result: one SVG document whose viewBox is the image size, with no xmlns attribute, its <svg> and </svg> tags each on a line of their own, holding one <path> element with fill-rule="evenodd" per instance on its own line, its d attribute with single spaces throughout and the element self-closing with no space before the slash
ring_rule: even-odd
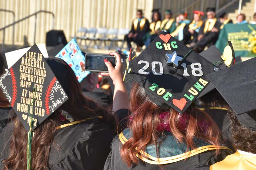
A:
<svg viewBox="0 0 256 170">
<path fill-rule="evenodd" d="M 80 88 L 73 70 L 61 59 L 48 58 L 47 62 L 53 73 L 56 75 L 61 86 L 67 93 L 69 99 L 61 106 L 59 110 L 65 110 L 75 120 L 88 117 L 103 116 L 103 121 L 110 125 L 111 129 L 116 128 L 116 120 L 108 111 L 98 106 L 93 100 L 86 98 Z M 54 68 L 55 67 L 55 68 Z M 58 69 L 56 69 L 58 67 Z M 53 143 L 59 125 L 57 119 L 58 111 L 54 112 L 46 119 L 35 132 L 32 140 L 32 169 L 47 170 L 50 146 Z M 27 166 L 27 131 L 17 116 L 9 126 L 14 126 L 14 131 L 10 139 L 9 155 L 2 161 L 4 169 L 21 170 Z M 58 143 L 56 143 L 58 145 Z"/>
</svg>

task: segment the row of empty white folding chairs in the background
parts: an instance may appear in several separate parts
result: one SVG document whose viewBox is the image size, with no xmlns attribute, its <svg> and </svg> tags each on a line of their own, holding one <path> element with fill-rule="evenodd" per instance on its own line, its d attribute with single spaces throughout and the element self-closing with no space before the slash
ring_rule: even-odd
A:
<svg viewBox="0 0 256 170">
<path fill-rule="evenodd" d="M 70 38 L 76 38 L 77 41 L 80 40 L 79 45 L 81 45 L 82 41 L 85 40 L 84 48 L 94 47 L 95 49 L 98 49 L 98 48 L 112 49 L 112 48 L 123 48 L 123 45 L 125 44 L 124 37 L 128 33 L 129 33 L 129 29 L 127 28 L 96 29 L 94 27 L 91 27 L 91 28 L 81 27 L 76 31 L 75 36 L 70 36 Z M 87 41 L 89 41 L 89 43 Z M 107 45 L 106 42 L 109 42 L 110 44 Z M 118 46 L 117 42 L 121 42 L 122 43 L 121 46 Z M 92 46 L 92 43 L 94 44 L 93 46 Z M 114 46 L 114 44 L 116 45 Z"/>
</svg>

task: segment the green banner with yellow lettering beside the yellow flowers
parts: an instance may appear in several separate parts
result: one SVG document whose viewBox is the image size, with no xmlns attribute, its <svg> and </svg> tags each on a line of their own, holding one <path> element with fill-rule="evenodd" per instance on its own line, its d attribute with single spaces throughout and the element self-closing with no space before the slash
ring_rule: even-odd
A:
<svg viewBox="0 0 256 170">
<path fill-rule="evenodd" d="M 231 41 L 236 57 L 256 56 L 256 24 L 224 25 L 215 46 L 223 53 L 224 48 Z"/>
</svg>

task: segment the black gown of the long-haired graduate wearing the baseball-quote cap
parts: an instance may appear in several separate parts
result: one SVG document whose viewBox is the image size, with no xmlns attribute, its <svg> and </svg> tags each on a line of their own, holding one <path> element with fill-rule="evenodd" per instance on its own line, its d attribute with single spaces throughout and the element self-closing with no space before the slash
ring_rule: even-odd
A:
<svg viewBox="0 0 256 170">
<path fill-rule="evenodd" d="M 7 158 L 14 122 L 0 134 L 0 162 Z M 109 125 L 95 118 L 59 129 L 49 153 L 49 170 L 102 170 L 113 134 Z M 56 148 L 58 144 L 58 148 Z M 3 164 L 0 163 L 0 169 Z"/>
</svg>

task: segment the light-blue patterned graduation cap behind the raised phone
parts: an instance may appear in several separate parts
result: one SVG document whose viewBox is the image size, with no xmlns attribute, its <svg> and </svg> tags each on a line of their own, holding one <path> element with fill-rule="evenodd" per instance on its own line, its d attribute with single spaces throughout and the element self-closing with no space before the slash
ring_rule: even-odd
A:
<svg viewBox="0 0 256 170">
<path fill-rule="evenodd" d="M 63 59 L 75 72 L 78 82 L 91 72 L 85 70 L 85 56 L 77 45 L 76 39 L 72 39 L 55 57 Z"/>
</svg>

